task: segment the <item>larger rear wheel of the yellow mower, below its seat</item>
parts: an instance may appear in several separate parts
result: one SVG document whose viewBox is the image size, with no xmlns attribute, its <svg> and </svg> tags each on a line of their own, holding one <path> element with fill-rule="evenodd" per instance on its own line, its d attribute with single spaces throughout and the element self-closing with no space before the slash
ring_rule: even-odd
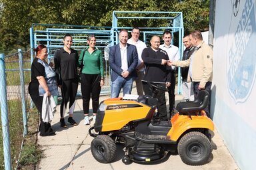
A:
<svg viewBox="0 0 256 170">
<path fill-rule="evenodd" d="M 213 150 L 209 139 L 199 131 L 191 131 L 181 137 L 177 149 L 181 160 L 187 165 L 207 163 Z"/>
</svg>

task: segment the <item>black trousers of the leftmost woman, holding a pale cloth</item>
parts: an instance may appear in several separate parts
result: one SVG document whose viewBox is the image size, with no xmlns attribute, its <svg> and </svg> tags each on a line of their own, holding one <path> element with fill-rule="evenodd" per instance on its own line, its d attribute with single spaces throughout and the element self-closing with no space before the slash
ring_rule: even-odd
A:
<svg viewBox="0 0 256 170">
<path fill-rule="evenodd" d="M 53 132 L 53 129 L 51 128 L 51 124 L 45 123 L 42 120 L 43 96 L 36 96 L 31 94 L 30 96 L 35 104 L 35 107 L 37 107 L 37 110 L 40 112 L 40 125 L 39 125 L 40 135 L 43 135 L 43 136 L 48 135 L 49 133 Z"/>
</svg>

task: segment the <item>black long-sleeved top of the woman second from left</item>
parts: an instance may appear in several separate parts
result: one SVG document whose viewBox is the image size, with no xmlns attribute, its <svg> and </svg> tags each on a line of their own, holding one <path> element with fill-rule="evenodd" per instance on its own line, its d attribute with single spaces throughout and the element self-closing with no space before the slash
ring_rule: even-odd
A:
<svg viewBox="0 0 256 170">
<path fill-rule="evenodd" d="M 66 52 L 64 48 L 61 48 L 55 52 L 54 64 L 58 85 L 62 84 L 62 80 L 78 78 L 78 58 L 79 56 L 77 50 L 73 50 L 72 48 L 70 54 Z"/>
</svg>

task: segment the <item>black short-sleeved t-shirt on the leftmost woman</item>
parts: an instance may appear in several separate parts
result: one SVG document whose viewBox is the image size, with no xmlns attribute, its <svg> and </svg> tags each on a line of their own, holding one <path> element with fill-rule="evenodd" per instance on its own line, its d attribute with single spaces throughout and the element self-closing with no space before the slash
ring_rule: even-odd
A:
<svg viewBox="0 0 256 170">
<path fill-rule="evenodd" d="M 29 94 L 39 96 L 39 82 L 37 76 L 45 77 L 45 67 L 38 62 L 38 58 L 34 58 L 31 65 L 31 82 L 29 83 Z"/>
</svg>

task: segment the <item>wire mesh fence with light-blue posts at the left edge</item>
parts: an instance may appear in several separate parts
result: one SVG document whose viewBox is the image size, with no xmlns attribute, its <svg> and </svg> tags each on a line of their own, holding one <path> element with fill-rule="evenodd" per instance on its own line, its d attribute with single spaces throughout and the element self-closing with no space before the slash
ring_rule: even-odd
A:
<svg viewBox="0 0 256 170">
<path fill-rule="evenodd" d="M 11 169 L 12 162 L 19 164 L 17 160 L 21 155 L 24 137 L 28 133 L 26 110 L 28 94 L 25 77 L 28 81 L 30 72 L 24 67 L 24 63 L 29 62 L 25 60 L 29 56 L 28 52 L 25 52 L 25 56 L 21 49 L 7 56 L 0 54 L 0 108 L 5 169 Z M 23 122 L 23 128 L 22 124 L 19 126 L 20 122 Z M 20 147 L 11 143 L 19 143 Z"/>
</svg>

